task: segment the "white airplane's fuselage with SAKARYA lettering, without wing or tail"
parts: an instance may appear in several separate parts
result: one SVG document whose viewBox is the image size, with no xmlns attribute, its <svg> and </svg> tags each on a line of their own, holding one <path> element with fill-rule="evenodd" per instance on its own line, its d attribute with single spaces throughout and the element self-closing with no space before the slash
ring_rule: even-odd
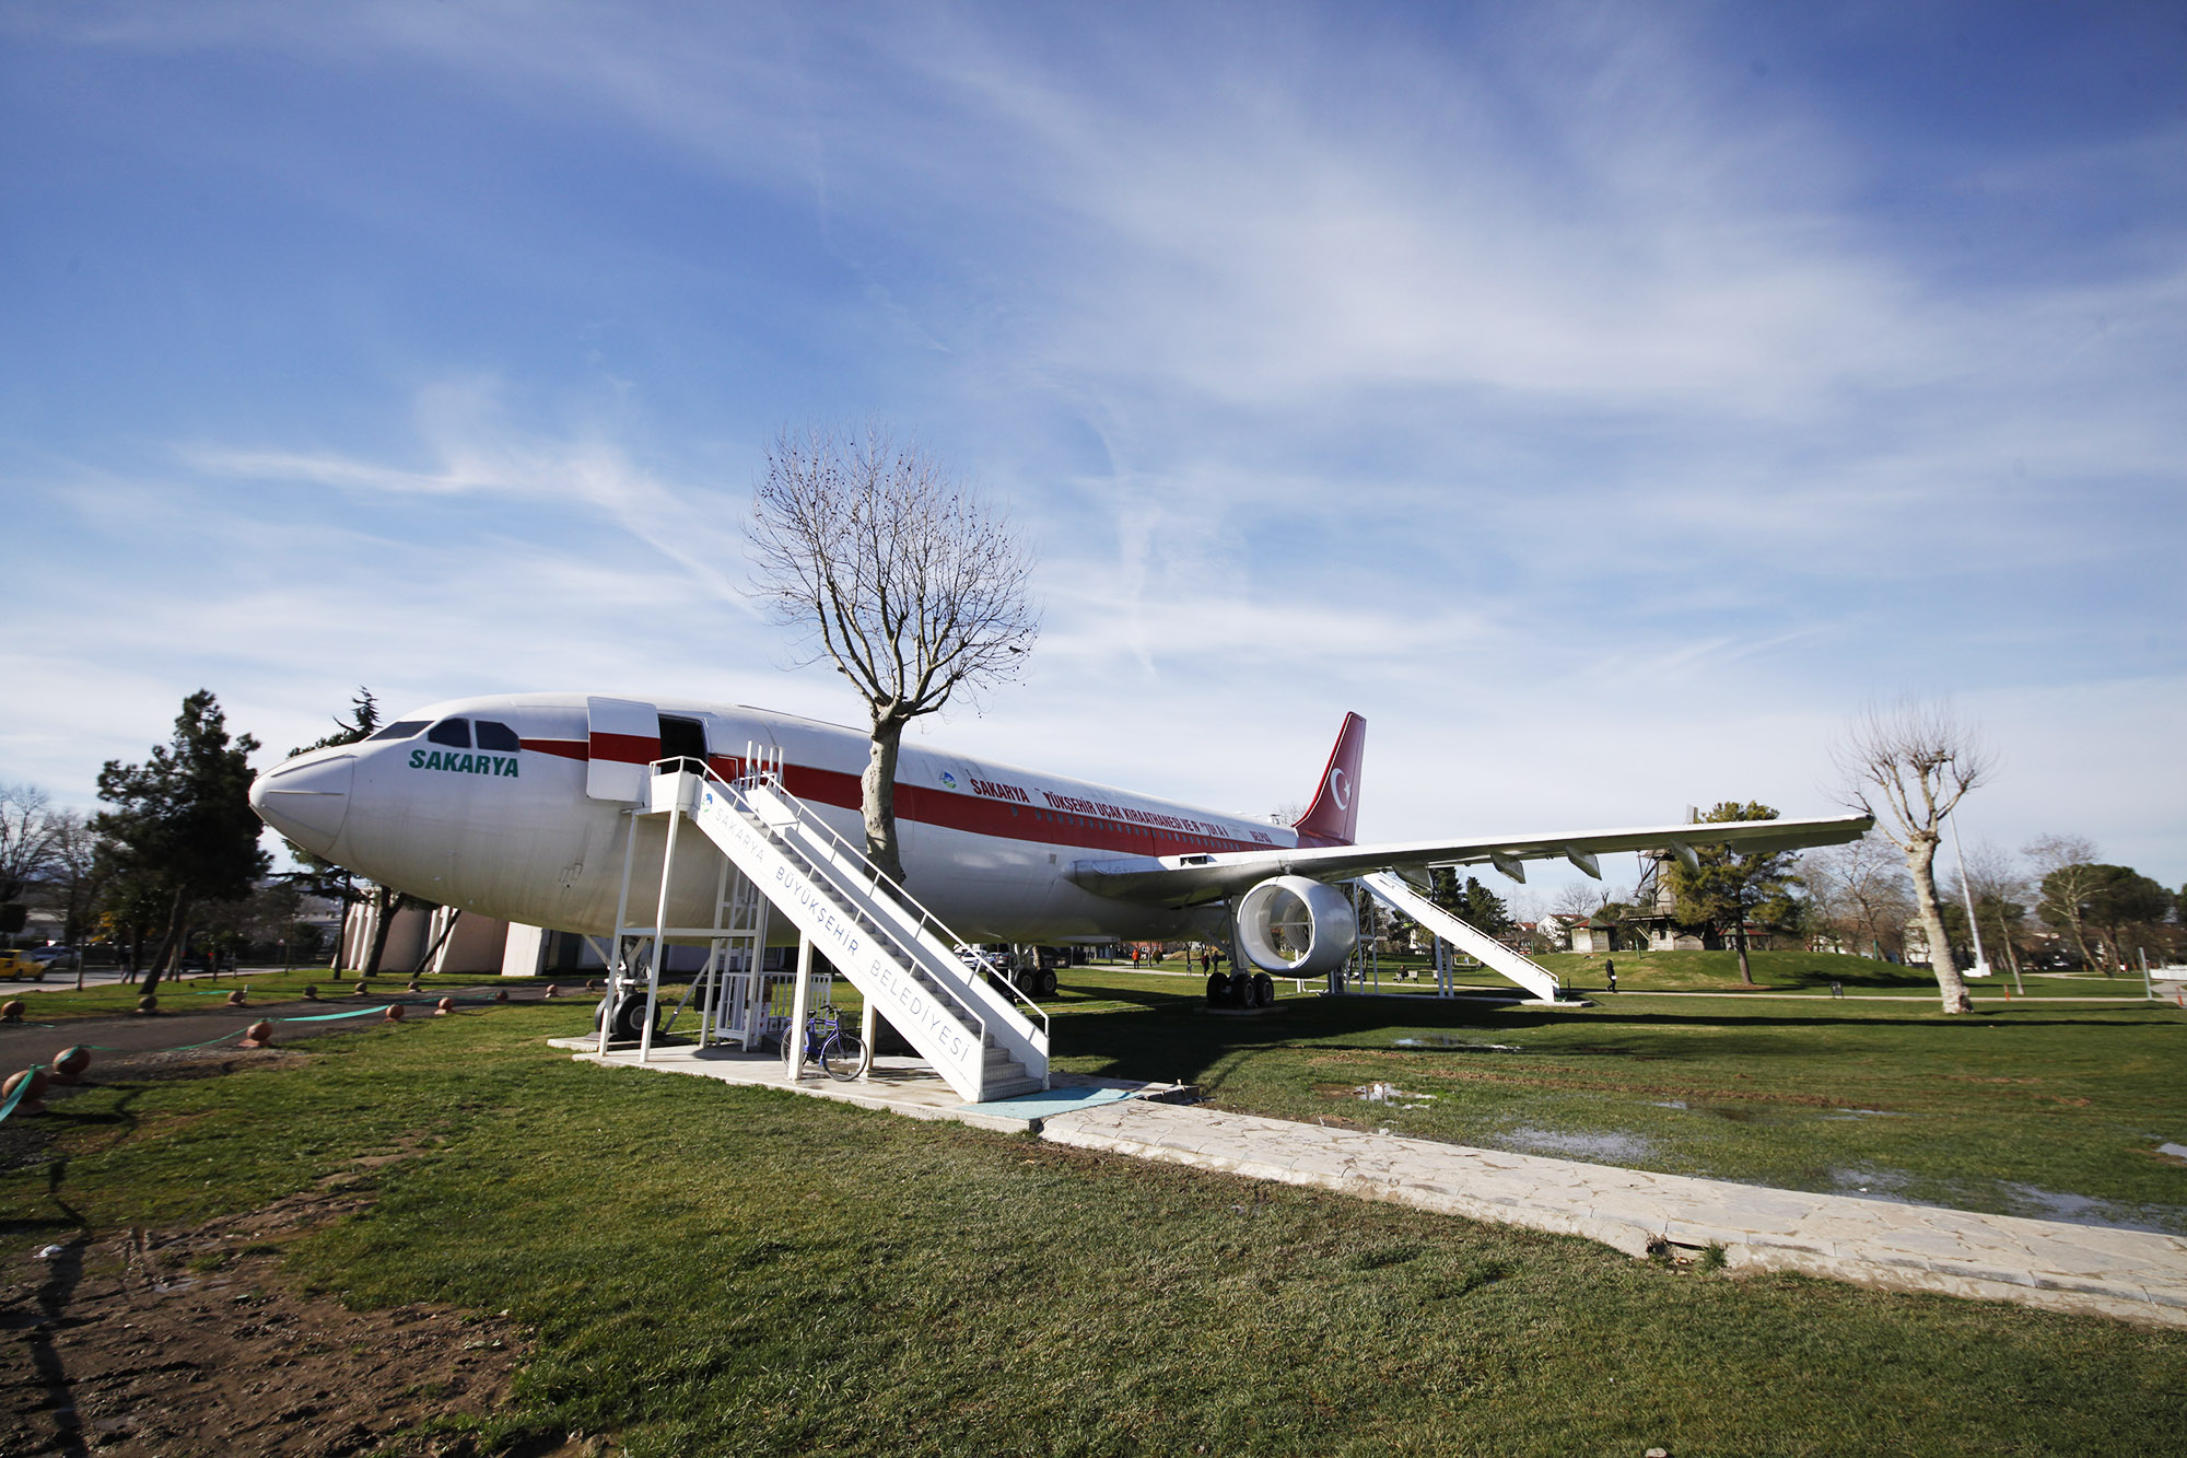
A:
<svg viewBox="0 0 2187 1458">
<path fill-rule="evenodd" d="M 868 738 L 768 709 L 584 694 L 455 698 L 407 714 L 402 738 L 297 755 L 252 788 L 258 814 L 328 860 L 464 911 L 573 933 L 610 933 L 630 836 L 632 887 L 652 895 L 663 821 L 628 814 L 643 766 L 663 757 L 654 716 L 704 731 L 722 773 L 748 747 L 779 755 L 783 784 L 859 843 Z M 457 729 L 451 720 L 464 720 Z M 429 738 L 437 736 L 437 738 Z M 461 740 L 461 742 L 455 742 Z M 667 753 L 691 753 L 689 740 Z M 1284 825 L 1220 814 L 1045 771 L 905 744 L 897 762 L 905 887 L 967 941 L 1212 937 L 1220 906 L 1163 909 L 1094 895 L 1080 860 L 1279 849 Z M 671 926 L 713 922 L 720 856 L 678 843 Z M 634 891 L 634 898 L 639 891 Z M 652 919 L 650 904 L 647 915 Z"/>
</svg>

